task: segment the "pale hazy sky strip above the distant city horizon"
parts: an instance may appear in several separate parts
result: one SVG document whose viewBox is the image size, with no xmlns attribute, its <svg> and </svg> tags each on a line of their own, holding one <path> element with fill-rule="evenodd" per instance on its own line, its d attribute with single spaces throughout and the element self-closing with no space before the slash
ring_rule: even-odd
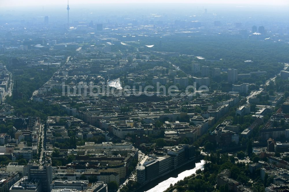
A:
<svg viewBox="0 0 289 192">
<path fill-rule="evenodd" d="M 289 5 L 288 0 L 70 0 L 70 5 L 99 3 L 198 3 L 198 4 L 248 4 Z M 66 5 L 67 0 L 0 0 L 0 7 Z"/>
</svg>

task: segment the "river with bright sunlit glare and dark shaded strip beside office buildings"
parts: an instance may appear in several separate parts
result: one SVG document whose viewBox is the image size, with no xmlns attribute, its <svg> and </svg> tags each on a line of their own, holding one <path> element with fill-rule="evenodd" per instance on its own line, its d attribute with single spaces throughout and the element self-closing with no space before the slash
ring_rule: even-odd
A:
<svg viewBox="0 0 289 192">
<path fill-rule="evenodd" d="M 145 192 L 163 192 L 164 190 L 168 189 L 171 184 L 175 184 L 179 180 L 183 180 L 185 177 L 190 176 L 198 169 L 203 169 L 203 165 L 205 164 L 204 160 L 200 162 L 191 162 L 183 167 L 180 167 L 177 170 L 172 171 L 171 173 L 162 176 L 152 182 L 149 182 L 144 187 L 139 189 L 138 191 L 145 191 Z"/>
</svg>

